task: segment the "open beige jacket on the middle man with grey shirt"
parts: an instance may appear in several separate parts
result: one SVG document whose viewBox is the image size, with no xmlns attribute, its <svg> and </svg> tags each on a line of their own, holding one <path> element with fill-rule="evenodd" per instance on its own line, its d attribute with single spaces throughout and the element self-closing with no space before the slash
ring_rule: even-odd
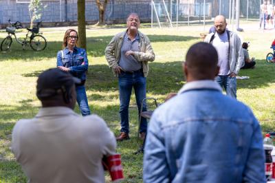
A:
<svg viewBox="0 0 275 183">
<path fill-rule="evenodd" d="M 109 43 L 109 45 L 107 45 L 105 49 L 106 60 L 109 63 L 109 67 L 111 67 L 112 69 L 117 67 L 118 61 L 120 61 L 120 49 L 122 47 L 125 34 L 126 31 L 116 34 L 113 39 L 111 39 L 111 42 Z M 138 34 L 140 35 L 140 52 L 135 52 L 134 56 L 137 61 L 142 62 L 143 74 L 144 77 L 146 77 L 148 76 L 149 72 L 148 61 L 153 62 L 155 60 L 155 53 L 153 52 L 153 48 L 148 37 L 142 34 L 140 31 L 138 32 Z M 113 73 L 115 74 L 114 70 Z"/>
</svg>

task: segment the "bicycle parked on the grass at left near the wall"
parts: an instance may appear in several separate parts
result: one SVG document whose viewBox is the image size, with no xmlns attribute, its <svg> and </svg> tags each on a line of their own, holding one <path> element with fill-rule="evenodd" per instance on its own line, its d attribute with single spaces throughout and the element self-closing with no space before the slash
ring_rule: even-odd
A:
<svg viewBox="0 0 275 183">
<path fill-rule="evenodd" d="M 5 29 L 5 32 L 8 32 L 8 36 L 6 36 L 5 39 L 3 39 L 3 41 L 1 42 L 1 51 L 8 51 L 10 49 L 10 45 L 12 45 L 12 35 L 14 35 L 17 43 L 23 46 L 23 49 L 25 49 L 26 45 L 30 45 L 30 47 L 32 47 L 32 50 L 34 51 L 41 51 L 45 49 L 45 47 L 47 46 L 47 41 L 45 37 L 42 36 L 42 33 L 39 32 L 41 21 L 36 24 L 35 28 L 27 28 L 28 33 L 26 34 L 23 41 L 17 39 L 17 35 L 15 34 L 15 31 L 17 29 L 22 28 L 21 22 L 16 21 L 15 23 L 11 23 L 10 20 L 8 20 L 8 22 L 10 23 L 11 27 L 7 27 Z"/>
</svg>

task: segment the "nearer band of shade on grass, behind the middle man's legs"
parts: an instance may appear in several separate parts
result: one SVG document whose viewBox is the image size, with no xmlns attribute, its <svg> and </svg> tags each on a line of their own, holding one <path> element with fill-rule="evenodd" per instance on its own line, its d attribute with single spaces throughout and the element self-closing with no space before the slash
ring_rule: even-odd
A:
<svg viewBox="0 0 275 183">
<path fill-rule="evenodd" d="M 169 92 L 177 92 L 185 83 L 181 69 L 181 61 L 169 63 L 149 63 L 150 72 L 147 78 L 147 93 L 152 95 L 164 95 Z M 275 64 L 257 61 L 255 69 L 241 69 L 239 76 L 250 76 L 248 80 L 238 80 L 238 88 L 261 88 L 275 83 Z M 24 74 L 25 77 L 37 77 L 43 71 Z M 86 80 L 87 91 L 115 92 L 118 91 L 118 78 L 108 65 L 90 65 Z M 107 98 L 108 97 L 108 98 Z M 110 99 L 114 96 L 99 94 L 96 98 Z M 93 96 L 91 96 L 93 100 Z"/>
</svg>

